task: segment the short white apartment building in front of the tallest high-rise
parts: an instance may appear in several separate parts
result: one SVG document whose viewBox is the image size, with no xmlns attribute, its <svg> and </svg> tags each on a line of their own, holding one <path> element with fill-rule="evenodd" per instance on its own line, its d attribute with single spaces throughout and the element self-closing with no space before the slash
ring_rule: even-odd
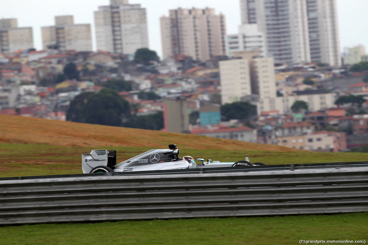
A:
<svg viewBox="0 0 368 245">
<path fill-rule="evenodd" d="M 259 50 L 262 57 L 266 55 L 265 36 L 257 24 L 240 25 L 239 33 L 227 35 L 226 55 L 242 50 Z"/>
</svg>

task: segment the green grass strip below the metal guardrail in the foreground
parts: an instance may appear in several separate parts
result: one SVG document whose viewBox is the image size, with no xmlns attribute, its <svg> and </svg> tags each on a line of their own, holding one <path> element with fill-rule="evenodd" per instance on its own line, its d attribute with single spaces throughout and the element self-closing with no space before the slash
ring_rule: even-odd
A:
<svg viewBox="0 0 368 245">
<path fill-rule="evenodd" d="M 299 244 L 367 241 L 368 213 L 231 217 L 0 227 L 0 244 Z"/>
</svg>

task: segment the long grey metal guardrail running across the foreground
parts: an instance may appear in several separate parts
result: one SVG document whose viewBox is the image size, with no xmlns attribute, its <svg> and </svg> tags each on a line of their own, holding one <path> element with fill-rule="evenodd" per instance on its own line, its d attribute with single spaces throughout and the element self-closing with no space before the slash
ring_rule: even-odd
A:
<svg viewBox="0 0 368 245">
<path fill-rule="evenodd" d="M 297 171 L 289 166 L 289 170 L 247 168 L 238 173 L 3 180 L 0 225 L 367 212 L 366 164 Z"/>
</svg>

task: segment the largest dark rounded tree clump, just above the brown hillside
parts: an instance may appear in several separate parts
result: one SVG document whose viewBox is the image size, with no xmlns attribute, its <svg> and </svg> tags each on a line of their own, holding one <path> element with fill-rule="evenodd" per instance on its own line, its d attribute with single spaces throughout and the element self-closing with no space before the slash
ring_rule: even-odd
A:
<svg viewBox="0 0 368 245">
<path fill-rule="evenodd" d="M 115 90 L 102 89 L 98 93 L 82 93 L 71 101 L 67 120 L 109 126 L 121 126 L 130 117 L 129 103 Z"/>
</svg>

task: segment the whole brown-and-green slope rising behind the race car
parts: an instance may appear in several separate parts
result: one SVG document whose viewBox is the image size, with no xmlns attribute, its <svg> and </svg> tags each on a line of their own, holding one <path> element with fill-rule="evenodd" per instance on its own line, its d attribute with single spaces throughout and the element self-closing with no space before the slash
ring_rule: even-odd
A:
<svg viewBox="0 0 368 245">
<path fill-rule="evenodd" d="M 117 150 L 120 162 L 169 143 L 178 145 L 180 156 L 219 161 L 245 156 L 266 164 L 367 160 L 367 153 L 316 153 L 198 135 L 0 115 L 0 177 L 78 174 L 82 173 L 81 153 L 92 149 Z"/>
</svg>

